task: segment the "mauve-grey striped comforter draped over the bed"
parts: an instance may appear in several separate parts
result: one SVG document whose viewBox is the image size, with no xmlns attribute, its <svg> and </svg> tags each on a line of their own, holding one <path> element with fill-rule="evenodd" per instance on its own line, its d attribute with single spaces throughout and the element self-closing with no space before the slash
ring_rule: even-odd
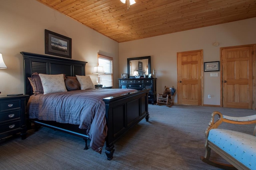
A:
<svg viewBox="0 0 256 170">
<path fill-rule="evenodd" d="M 101 153 L 108 131 L 102 99 L 134 91 L 137 90 L 91 89 L 38 94 L 30 96 L 26 109 L 30 119 L 70 123 L 87 129 L 90 147 Z"/>
</svg>

